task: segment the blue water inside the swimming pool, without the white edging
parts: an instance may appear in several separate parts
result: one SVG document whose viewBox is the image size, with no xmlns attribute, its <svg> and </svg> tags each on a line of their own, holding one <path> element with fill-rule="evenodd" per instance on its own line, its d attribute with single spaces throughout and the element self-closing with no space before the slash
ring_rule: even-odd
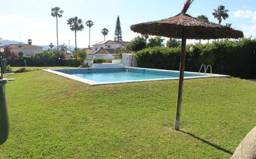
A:
<svg viewBox="0 0 256 159">
<path fill-rule="evenodd" d="M 85 69 L 54 69 L 53 71 L 75 75 L 94 82 L 117 82 L 152 79 L 170 79 L 179 77 L 179 72 L 141 68 L 85 68 Z M 198 73 L 185 72 L 185 77 L 199 76 Z M 201 76 L 201 74 L 200 74 Z"/>
</svg>

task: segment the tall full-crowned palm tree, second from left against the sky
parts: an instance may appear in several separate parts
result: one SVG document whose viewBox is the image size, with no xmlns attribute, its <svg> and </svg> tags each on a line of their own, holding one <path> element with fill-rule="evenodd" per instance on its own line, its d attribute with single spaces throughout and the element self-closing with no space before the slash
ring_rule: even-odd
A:
<svg viewBox="0 0 256 159">
<path fill-rule="evenodd" d="M 73 17 L 68 19 L 68 25 L 70 25 L 70 30 L 75 32 L 75 47 L 76 47 L 76 32 L 83 30 L 83 20 L 78 19 L 78 17 Z M 76 54 L 77 48 L 75 48 Z M 77 61 L 77 54 L 76 54 L 76 61 Z"/>
</svg>

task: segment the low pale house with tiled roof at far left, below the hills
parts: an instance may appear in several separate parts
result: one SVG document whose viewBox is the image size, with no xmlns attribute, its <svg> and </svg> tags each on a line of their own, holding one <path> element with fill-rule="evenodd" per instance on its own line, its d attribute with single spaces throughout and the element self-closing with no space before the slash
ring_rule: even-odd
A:
<svg viewBox="0 0 256 159">
<path fill-rule="evenodd" d="M 11 48 L 11 51 L 13 51 L 15 54 L 22 52 L 23 56 L 28 56 L 30 54 L 40 52 L 43 49 L 40 46 L 28 45 L 28 44 L 10 44 L 6 46 L 9 46 Z M 1 46 L 1 48 L 4 48 L 4 47 L 5 46 Z"/>
</svg>

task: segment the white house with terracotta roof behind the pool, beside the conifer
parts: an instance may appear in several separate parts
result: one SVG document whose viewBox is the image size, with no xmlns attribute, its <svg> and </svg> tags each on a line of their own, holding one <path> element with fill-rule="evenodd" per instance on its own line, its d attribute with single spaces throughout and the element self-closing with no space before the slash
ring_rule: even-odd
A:
<svg viewBox="0 0 256 159">
<path fill-rule="evenodd" d="M 101 41 L 93 45 L 93 48 L 86 49 L 87 59 L 114 59 L 115 58 L 115 49 L 124 48 L 124 44 L 127 42 L 118 42 L 118 41 Z"/>
</svg>

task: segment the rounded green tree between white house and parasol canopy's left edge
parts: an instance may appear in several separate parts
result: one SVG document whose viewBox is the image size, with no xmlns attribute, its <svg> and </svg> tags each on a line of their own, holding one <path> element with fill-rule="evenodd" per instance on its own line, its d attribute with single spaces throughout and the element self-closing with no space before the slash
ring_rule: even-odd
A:
<svg viewBox="0 0 256 159">
<path fill-rule="evenodd" d="M 130 43 L 125 46 L 128 51 L 139 51 L 146 48 L 147 40 L 144 37 L 135 37 Z"/>
</svg>

